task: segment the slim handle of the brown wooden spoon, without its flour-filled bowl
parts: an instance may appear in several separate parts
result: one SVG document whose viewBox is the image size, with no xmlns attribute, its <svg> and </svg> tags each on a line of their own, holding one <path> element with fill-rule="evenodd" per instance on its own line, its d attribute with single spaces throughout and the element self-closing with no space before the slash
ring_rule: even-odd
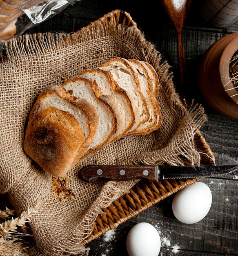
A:
<svg viewBox="0 0 238 256">
<path fill-rule="evenodd" d="M 187 63 L 185 58 L 183 40 L 182 40 L 182 29 L 177 31 L 177 43 L 178 43 L 178 68 L 180 74 L 180 84 L 183 89 L 183 93 L 185 90 L 185 77 L 187 73 Z"/>
</svg>

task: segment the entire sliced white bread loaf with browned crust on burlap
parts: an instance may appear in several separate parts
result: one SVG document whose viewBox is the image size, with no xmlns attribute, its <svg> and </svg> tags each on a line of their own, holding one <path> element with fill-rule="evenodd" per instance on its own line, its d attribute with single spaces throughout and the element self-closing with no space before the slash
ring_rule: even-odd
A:
<svg viewBox="0 0 238 256">
<path fill-rule="evenodd" d="M 151 68 L 115 58 L 47 88 L 29 115 L 24 150 L 46 171 L 62 177 L 111 141 L 157 129 L 162 120 L 156 101 L 159 84 Z"/>
</svg>

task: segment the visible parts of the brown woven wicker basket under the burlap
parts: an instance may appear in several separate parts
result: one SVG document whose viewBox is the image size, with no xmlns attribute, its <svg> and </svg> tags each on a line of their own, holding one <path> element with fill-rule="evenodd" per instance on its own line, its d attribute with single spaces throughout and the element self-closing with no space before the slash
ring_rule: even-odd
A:
<svg viewBox="0 0 238 256">
<path fill-rule="evenodd" d="M 94 22 L 101 21 L 112 22 L 114 24 L 119 23 L 122 26 L 133 26 L 137 28 L 136 22 L 132 20 L 130 14 L 121 10 L 111 11 Z M 91 22 L 91 24 L 94 22 Z M 207 144 L 206 139 L 200 131 L 197 132 L 194 139 L 197 149 L 205 153 L 204 157 L 201 158 L 200 165 L 214 164 L 214 153 L 211 151 L 210 146 Z M 185 165 L 190 165 L 188 162 L 184 163 Z M 122 222 L 138 215 L 138 213 L 145 211 L 147 208 L 151 207 L 151 205 L 160 202 L 186 186 L 194 184 L 198 180 L 199 178 L 161 180 L 159 182 L 141 180 L 130 189 L 129 193 L 121 196 L 118 200 L 113 202 L 113 204 L 107 207 L 104 214 L 98 216 L 94 222 L 93 233 L 82 245 L 91 242 L 93 239 L 105 234 L 110 229 L 116 229 Z"/>
</svg>

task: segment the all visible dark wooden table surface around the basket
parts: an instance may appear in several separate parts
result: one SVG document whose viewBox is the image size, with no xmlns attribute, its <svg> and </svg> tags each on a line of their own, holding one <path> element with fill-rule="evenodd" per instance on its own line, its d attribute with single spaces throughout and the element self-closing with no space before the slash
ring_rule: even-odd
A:
<svg viewBox="0 0 238 256">
<path fill-rule="evenodd" d="M 189 70 L 189 94 L 205 106 L 197 89 L 196 72 L 200 57 L 222 36 L 238 32 L 238 22 L 225 29 L 209 27 L 200 18 L 201 2 L 192 1 L 184 28 L 184 42 Z M 147 40 L 156 46 L 162 58 L 171 65 L 177 85 L 176 34 L 160 1 L 139 3 L 128 0 L 118 2 L 81 0 L 27 33 L 77 31 L 114 9 L 121 9 L 131 14 Z M 201 131 L 215 153 L 216 164 L 238 164 L 238 121 L 216 115 L 206 106 L 205 110 L 208 120 Z M 103 235 L 89 243 L 88 246 L 91 248 L 89 255 L 128 255 L 127 233 L 138 222 L 151 223 L 158 229 L 162 241 L 161 256 L 238 255 L 238 181 L 206 178 L 201 182 L 205 182 L 210 187 L 213 195 L 211 209 L 202 221 L 187 225 L 176 220 L 171 211 L 173 200 L 171 196 L 127 220 L 116 230 L 111 231 L 111 234 Z"/>
</svg>

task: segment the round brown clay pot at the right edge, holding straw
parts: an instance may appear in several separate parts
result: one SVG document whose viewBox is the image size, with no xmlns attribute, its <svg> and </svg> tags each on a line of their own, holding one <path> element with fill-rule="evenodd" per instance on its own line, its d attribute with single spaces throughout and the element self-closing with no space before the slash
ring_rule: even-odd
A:
<svg viewBox="0 0 238 256">
<path fill-rule="evenodd" d="M 207 105 L 220 115 L 238 119 L 238 95 L 229 79 L 229 64 L 238 51 L 238 33 L 220 38 L 205 52 L 198 68 L 198 86 Z M 238 93 L 238 92 L 237 92 Z"/>
</svg>

